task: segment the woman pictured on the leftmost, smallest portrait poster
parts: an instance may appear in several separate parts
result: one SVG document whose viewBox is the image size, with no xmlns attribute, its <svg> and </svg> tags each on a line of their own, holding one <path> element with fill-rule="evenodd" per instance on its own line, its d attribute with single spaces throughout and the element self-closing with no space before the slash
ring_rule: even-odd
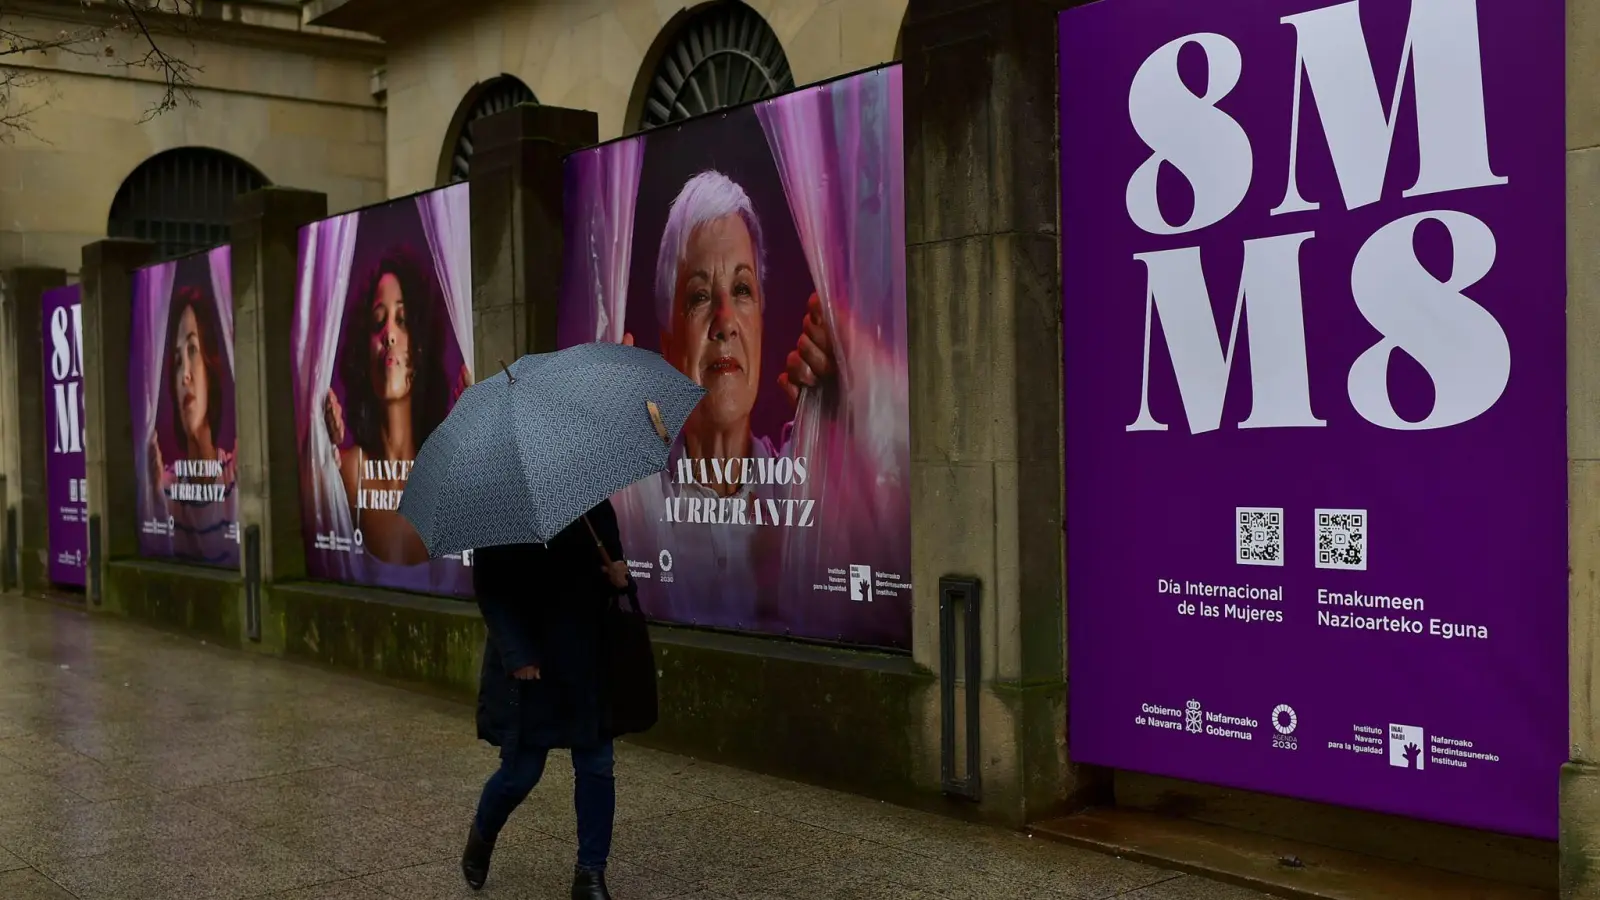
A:
<svg viewBox="0 0 1600 900">
<path fill-rule="evenodd" d="M 173 291 L 166 319 L 166 364 L 163 378 L 166 400 L 173 410 L 171 445 L 184 460 L 186 472 L 178 477 L 166 469 L 162 458 L 162 440 L 155 437 L 149 448 L 154 469 L 152 484 L 160 485 L 171 517 L 173 549 L 179 556 L 203 559 L 205 551 L 214 552 L 218 541 L 232 524 L 229 503 L 208 496 L 192 501 L 174 487 L 226 485 L 226 495 L 234 488 L 234 452 L 221 447 L 224 367 L 227 365 L 222 341 L 222 323 L 216 299 L 210 290 L 181 287 Z M 213 463 L 213 464 L 206 464 Z M 214 495 L 213 495 L 214 496 Z"/>
</svg>

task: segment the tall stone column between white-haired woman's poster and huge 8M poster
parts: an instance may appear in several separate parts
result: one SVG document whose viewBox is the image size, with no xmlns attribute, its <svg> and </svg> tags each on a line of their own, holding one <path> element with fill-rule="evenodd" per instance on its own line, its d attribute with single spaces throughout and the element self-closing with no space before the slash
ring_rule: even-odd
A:
<svg viewBox="0 0 1600 900">
<path fill-rule="evenodd" d="M 910 0 L 901 35 L 914 653 L 938 671 L 939 578 L 976 577 L 982 806 L 1013 823 L 1062 807 L 1078 785 L 1064 733 L 1056 207 L 1067 5 Z M 925 722 L 938 727 L 936 706 Z"/>
</svg>

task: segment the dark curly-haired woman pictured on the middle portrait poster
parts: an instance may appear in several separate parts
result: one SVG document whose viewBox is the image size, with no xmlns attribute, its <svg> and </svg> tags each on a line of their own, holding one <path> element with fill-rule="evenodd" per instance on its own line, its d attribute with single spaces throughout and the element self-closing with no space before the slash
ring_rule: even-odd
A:
<svg viewBox="0 0 1600 900">
<path fill-rule="evenodd" d="M 400 516 L 400 496 L 416 452 L 470 373 L 462 367 L 454 384 L 443 376 L 450 328 L 426 258 L 392 248 L 355 290 L 339 359 L 344 402 L 330 391 L 323 416 L 365 552 L 418 565 L 427 562 L 427 548 Z M 346 439 L 349 448 L 338 450 Z"/>
</svg>

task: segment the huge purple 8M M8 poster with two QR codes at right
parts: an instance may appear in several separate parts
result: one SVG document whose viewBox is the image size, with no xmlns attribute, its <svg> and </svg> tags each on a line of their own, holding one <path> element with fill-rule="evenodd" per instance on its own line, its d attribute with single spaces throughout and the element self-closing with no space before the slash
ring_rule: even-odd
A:
<svg viewBox="0 0 1600 900">
<path fill-rule="evenodd" d="M 1554 838 L 1563 11 L 1061 16 L 1078 762 Z"/>
</svg>

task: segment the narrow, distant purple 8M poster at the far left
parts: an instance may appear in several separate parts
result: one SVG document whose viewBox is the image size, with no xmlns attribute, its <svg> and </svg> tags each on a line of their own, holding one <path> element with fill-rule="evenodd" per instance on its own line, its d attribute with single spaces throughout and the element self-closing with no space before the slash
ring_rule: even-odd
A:
<svg viewBox="0 0 1600 900">
<path fill-rule="evenodd" d="M 90 490 L 83 469 L 83 304 L 78 285 L 48 290 L 40 304 L 50 580 L 82 588 L 90 556 Z"/>
</svg>

